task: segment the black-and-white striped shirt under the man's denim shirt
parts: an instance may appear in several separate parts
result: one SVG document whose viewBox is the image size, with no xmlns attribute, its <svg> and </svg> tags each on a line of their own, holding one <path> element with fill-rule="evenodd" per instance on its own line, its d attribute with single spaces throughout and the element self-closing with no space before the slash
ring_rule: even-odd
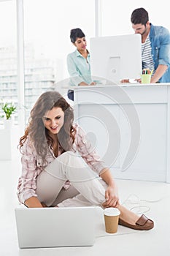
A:
<svg viewBox="0 0 170 256">
<path fill-rule="evenodd" d="M 146 41 L 142 43 L 142 69 L 153 70 L 152 75 L 155 73 L 149 36 Z"/>
</svg>

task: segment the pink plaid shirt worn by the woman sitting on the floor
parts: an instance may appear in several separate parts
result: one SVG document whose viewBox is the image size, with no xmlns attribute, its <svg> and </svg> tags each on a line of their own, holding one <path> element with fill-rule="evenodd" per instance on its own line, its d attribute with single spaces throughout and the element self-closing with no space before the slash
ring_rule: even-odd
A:
<svg viewBox="0 0 170 256">
<path fill-rule="evenodd" d="M 89 140 L 87 140 L 85 132 L 77 124 L 74 124 L 76 129 L 75 140 L 72 145 L 72 151 L 78 151 L 80 156 L 85 160 L 88 166 L 98 173 L 101 173 L 101 170 L 104 169 L 103 162 L 96 154 L 96 151 L 91 146 Z M 39 176 L 39 173 L 44 170 L 45 166 L 53 162 L 55 157 L 53 152 L 49 151 L 47 154 L 47 164 L 42 164 L 42 158 L 36 154 L 36 151 L 33 146 L 29 143 L 29 140 L 26 140 L 23 147 L 23 154 L 21 157 L 22 163 L 22 175 L 18 181 L 18 200 L 20 203 L 24 203 L 30 197 L 36 197 L 36 177 Z M 67 189 L 70 186 L 69 181 L 66 181 L 64 188 Z"/>
</svg>

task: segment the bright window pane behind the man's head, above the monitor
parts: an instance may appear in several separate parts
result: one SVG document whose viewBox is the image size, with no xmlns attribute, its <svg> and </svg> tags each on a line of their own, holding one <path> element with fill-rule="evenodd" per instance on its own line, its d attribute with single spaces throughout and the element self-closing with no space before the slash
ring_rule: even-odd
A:
<svg viewBox="0 0 170 256">
<path fill-rule="evenodd" d="M 147 10 L 153 25 L 165 26 L 170 30 L 169 8 L 166 0 L 161 1 L 161 5 L 155 4 L 154 0 L 144 0 L 142 4 L 138 4 L 136 0 L 116 2 L 101 0 L 101 35 L 133 34 L 131 12 L 139 7 Z"/>
</svg>

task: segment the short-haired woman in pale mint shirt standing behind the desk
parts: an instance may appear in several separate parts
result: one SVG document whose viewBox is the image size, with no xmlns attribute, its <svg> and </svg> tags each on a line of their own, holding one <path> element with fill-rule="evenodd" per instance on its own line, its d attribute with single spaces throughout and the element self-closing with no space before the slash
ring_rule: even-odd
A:
<svg viewBox="0 0 170 256">
<path fill-rule="evenodd" d="M 76 50 L 67 56 L 67 68 L 71 77 L 71 85 L 94 86 L 96 82 L 91 79 L 90 53 L 86 48 L 85 34 L 81 29 L 72 29 L 70 31 L 70 39 L 76 47 Z M 73 96 L 73 91 L 69 90 L 69 99 L 74 100 Z"/>
</svg>

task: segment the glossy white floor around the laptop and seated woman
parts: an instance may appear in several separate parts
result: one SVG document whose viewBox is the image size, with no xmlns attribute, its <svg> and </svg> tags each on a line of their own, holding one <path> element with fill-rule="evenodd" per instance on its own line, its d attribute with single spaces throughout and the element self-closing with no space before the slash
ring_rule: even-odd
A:
<svg viewBox="0 0 170 256">
<path fill-rule="evenodd" d="M 12 161 L 0 162 L 0 255 L 115 255 L 169 256 L 170 255 L 170 184 L 117 180 L 121 202 L 139 214 L 155 220 L 155 228 L 148 231 L 118 227 L 116 234 L 104 231 L 102 212 L 98 211 L 94 246 L 19 249 L 14 208 L 18 207 L 16 187 L 20 175 L 20 155 Z"/>
</svg>

